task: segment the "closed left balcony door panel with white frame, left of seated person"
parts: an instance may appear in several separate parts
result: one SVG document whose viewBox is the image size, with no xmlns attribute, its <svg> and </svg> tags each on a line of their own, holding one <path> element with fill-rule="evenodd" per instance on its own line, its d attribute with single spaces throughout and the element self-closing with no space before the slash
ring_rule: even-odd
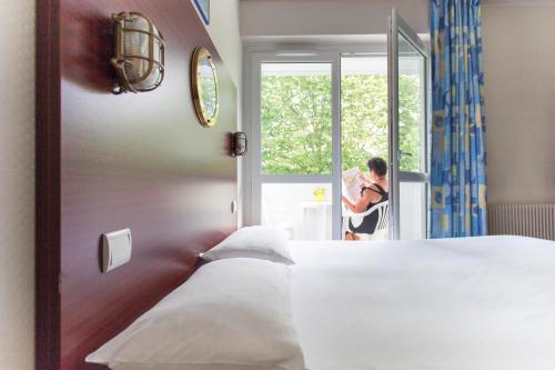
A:
<svg viewBox="0 0 555 370">
<path fill-rule="evenodd" d="M 340 237 L 339 58 L 261 53 L 253 68 L 252 218 Z"/>
</svg>

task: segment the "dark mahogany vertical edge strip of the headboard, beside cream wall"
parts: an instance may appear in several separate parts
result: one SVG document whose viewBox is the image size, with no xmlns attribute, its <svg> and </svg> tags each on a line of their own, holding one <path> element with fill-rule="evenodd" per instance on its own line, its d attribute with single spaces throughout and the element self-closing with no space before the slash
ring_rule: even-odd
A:
<svg viewBox="0 0 555 370">
<path fill-rule="evenodd" d="M 36 368 L 60 364 L 60 28 L 57 0 L 37 1 Z"/>
</svg>

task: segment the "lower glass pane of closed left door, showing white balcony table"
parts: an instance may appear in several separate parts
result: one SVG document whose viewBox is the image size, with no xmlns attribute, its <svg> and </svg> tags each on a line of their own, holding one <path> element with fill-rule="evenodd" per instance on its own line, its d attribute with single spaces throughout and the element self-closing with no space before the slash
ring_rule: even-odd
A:
<svg viewBox="0 0 555 370">
<path fill-rule="evenodd" d="M 262 224 L 294 240 L 332 239 L 331 183 L 263 183 Z"/>
</svg>

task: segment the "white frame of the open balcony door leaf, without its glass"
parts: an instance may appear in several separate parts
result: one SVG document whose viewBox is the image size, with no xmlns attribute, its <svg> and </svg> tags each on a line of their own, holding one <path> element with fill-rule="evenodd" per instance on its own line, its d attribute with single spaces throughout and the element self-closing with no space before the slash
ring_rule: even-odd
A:
<svg viewBox="0 0 555 370">
<path fill-rule="evenodd" d="M 387 30 L 387 84 L 389 84 L 389 128 L 390 128 L 390 239 L 396 240 L 401 236 L 401 214 L 400 214 L 400 184 L 401 182 L 418 182 L 425 184 L 425 209 L 422 217 L 424 222 L 423 234 L 428 237 L 428 208 L 430 208 L 430 142 L 428 130 L 431 122 L 430 106 L 430 51 L 418 34 L 403 20 L 397 10 L 393 8 L 389 18 Z M 423 87 L 423 112 L 425 124 L 421 128 L 421 144 L 424 146 L 424 156 L 422 156 L 421 168 L 424 172 L 406 172 L 400 170 L 400 117 L 398 117 L 398 36 L 402 36 L 423 58 L 424 58 L 424 87 Z"/>
</svg>

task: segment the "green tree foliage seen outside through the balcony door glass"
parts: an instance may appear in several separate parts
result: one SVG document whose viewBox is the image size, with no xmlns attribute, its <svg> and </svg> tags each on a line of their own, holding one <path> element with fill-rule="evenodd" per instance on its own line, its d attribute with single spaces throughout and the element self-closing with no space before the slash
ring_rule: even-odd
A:
<svg viewBox="0 0 555 370">
<path fill-rule="evenodd" d="M 343 169 L 387 159 L 387 80 L 383 74 L 344 76 L 342 86 Z M 262 171 L 268 174 L 332 172 L 332 81 L 330 76 L 262 77 Z M 400 79 L 400 144 L 412 156 L 401 168 L 420 168 L 421 86 Z"/>
</svg>

